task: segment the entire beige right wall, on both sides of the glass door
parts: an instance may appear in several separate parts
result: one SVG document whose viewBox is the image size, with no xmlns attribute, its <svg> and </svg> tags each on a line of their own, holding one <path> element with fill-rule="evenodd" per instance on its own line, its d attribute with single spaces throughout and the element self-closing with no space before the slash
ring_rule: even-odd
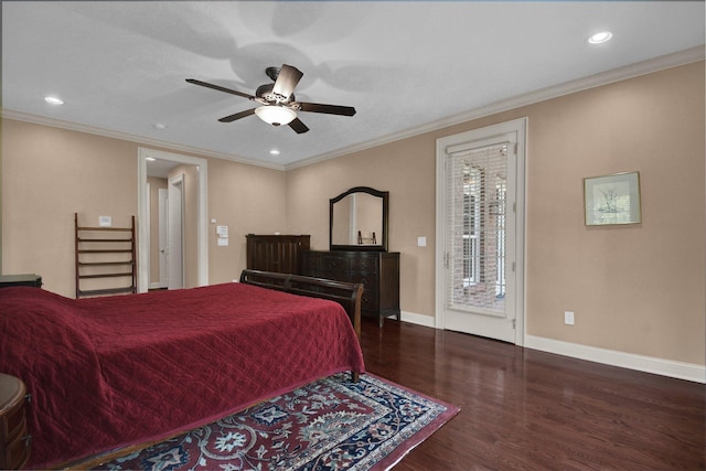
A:
<svg viewBox="0 0 706 471">
<path fill-rule="evenodd" d="M 289 228 L 325 249 L 330 197 L 389 191 L 402 310 L 434 317 L 436 139 L 527 117 L 527 333 L 704 364 L 704 99 L 702 62 L 296 169 Z M 642 224 L 586 227 L 582 179 L 623 171 L 640 172 Z"/>
</svg>

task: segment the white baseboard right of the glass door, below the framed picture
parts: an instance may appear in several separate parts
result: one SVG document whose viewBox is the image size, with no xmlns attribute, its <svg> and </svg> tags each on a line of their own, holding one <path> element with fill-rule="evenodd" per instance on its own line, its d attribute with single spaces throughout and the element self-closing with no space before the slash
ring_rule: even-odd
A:
<svg viewBox="0 0 706 471">
<path fill-rule="evenodd" d="M 678 379 L 706 383 L 706 367 L 694 363 L 675 362 L 535 335 L 525 336 L 525 347 Z"/>
</svg>

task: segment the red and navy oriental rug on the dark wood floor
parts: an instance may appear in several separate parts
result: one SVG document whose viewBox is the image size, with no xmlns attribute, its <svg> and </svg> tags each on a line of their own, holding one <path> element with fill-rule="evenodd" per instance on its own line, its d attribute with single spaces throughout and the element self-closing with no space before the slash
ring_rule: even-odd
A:
<svg viewBox="0 0 706 471">
<path fill-rule="evenodd" d="M 371 374 L 338 374 L 96 469 L 385 470 L 458 411 Z"/>
</svg>

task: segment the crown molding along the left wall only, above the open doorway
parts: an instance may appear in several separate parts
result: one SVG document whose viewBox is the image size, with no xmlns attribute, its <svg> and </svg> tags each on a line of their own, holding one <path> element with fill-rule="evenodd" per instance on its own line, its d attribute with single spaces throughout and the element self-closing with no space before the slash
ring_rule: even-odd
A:
<svg viewBox="0 0 706 471">
<path fill-rule="evenodd" d="M 148 138 L 148 137 L 145 137 L 145 136 L 131 135 L 131 133 L 128 133 L 128 132 L 113 131 L 110 129 L 97 128 L 97 127 L 88 126 L 88 125 L 79 125 L 77 122 L 64 121 L 64 120 L 61 120 L 61 119 L 49 118 L 49 117 L 39 116 L 39 115 L 32 115 L 32 114 L 29 114 L 29 113 L 17 111 L 17 110 L 13 110 L 13 109 L 4 109 L 4 108 L 2 108 L 0 110 L 0 116 L 2 116 L 2 118 L 7 118 L 7 119 L 14 119 L 14 120 L 18 120 L 18 121 L 32 122 L 34 125 L 43 125 L 43 126 L 50 126 L 50 127 L 53 127 L 53 128 L 66 129 L 66 130 L 69 130 L 69 131 L 86 132 L 86 133 L 89 133 L 89 135 L 103 136 L 103 137 L 111 138 L 111 139 L 120 139 L 120 140 L 126 140 L 126 141 L 135 142 L 135 143 L 138 143 L 138 144 L 142 144 L 142 146 L 159 147 L 161 149 L 167 149 L 167 150 L 170 150 L 170 151 L 178 151 L 178 152 L 182 152 L 182 153 L 195 154 L 197 157 L 211 157 L 211 158 L 214 158 L 214 159 L 229 160 L 229 161 L 233 161 L 233 162 L 244 163 L 244 164 L 247 164 L 247 165 L 264 167 L 264 168 L 267 168 L 267 169 L 274 169 L 274 170 L 279 170 L 279 171 L 285 171 L 286 170 L 285 165 L 281 165 L 281 164 L 276 164 L 276 163 L 271 163 L 271 162 L 260 162 L 260 161 L 257 161 L 257 160 L 246 159 L 244 157 L 236 156 L 236 154 L 223 153 L 223 152 L 214 152 L 212 150 L 201 149 L 201 148 L 197 148 L 197 147 L 183 146 L 183 144 L 175 143 L 175 142 L 163 141 L 163 140 L 160 140 L 160 139 L 152 139 L 152 138 Z"/>
</svg>

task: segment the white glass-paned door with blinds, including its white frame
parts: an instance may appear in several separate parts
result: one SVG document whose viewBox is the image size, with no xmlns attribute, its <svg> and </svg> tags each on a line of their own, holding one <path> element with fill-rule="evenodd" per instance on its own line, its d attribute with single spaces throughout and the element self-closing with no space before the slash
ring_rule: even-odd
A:
<svg viewBox="0 0 706 471">
<path fill-rule="evenodd" d="M 437 327 L 523 342 L 524 129 L 437 141 Z"/>
</svg>

